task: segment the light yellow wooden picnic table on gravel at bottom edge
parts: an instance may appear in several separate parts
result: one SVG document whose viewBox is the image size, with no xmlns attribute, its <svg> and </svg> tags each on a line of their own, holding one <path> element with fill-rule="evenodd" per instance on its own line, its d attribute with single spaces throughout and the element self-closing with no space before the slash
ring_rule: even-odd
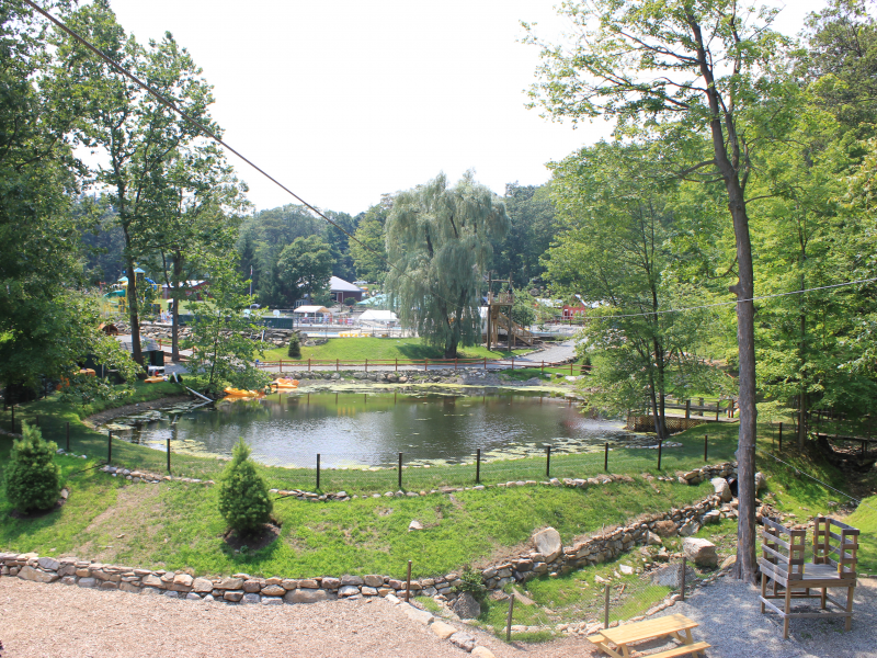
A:
<svg viewBox="0 0 877 658">
<path fill-rule="evenodd" d="M 709 648 L 709 645 L 705 642 L 694 642 L 692 628 L 696 628 L 697 625 L 697 622 L 690 620 L 685 615 L 671 614 L 637 622 L 636 624 L 606 628 L 597 635 L 590 635 L 588 639 L 614 658 L 629 658 L 630 645 L 634 643 L 659 637 L 672 637 L 680 640 L 682 645 L 658 654 L 650 654 L 649 658 L 674 658 L 675 656 L 691 655 L 696 657 Z M 610 643 L 614 644 L 615 648 L 612 648 Z"/>
</svg>

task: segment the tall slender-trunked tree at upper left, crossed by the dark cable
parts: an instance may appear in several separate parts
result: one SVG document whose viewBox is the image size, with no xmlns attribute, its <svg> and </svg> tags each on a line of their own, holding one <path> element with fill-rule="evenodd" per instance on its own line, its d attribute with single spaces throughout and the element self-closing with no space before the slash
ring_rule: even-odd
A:
<svg viewBox="0 0 877 658">
<path fill-rule="evenodd" d="M 207 114 L 213 103 L 210 87 L 170 33 L 160 42 L 150 41 L 148 47 L 143 47 L 118 25 L 107 0 L 81 7 L 68 23 L 115 64 L 174 99 L 189 116 L 216 128 Z M 145 229 L 156 220 L 149 214 L 146 191 L 150 179 L 163 171 L 170 154 L 195 139 L 201 128 L 121 76 L 66 33 L 58 35 L 55 46 L 62 61 L 56 69 L 57 77 L 73 90 L 75 100 L 83 106 L 77 135 L 86 147 L 101 150 L 106 158 L 94 174 L 96 182 L 107 189 L 122 227 L 129 280 L 132 353 L 135 361 L 143 363 L 134 270 L 136 260 L 148 251 Z"/>
</svg>

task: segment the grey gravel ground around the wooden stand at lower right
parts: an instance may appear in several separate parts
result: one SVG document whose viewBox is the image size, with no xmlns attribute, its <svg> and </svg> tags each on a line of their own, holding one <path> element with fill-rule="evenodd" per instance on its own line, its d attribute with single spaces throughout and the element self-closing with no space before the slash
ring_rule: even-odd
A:
<svg viewBox="0 0 877 658">
<path fill-rule="evenodd" d="M 877 658 L 877 579 L 861 578 L 853 599 L 853 629 L 843 632 L 843 619 L 793 619 L 789 639 L 783 639 L 778 615 L 761 613 L 760 589 L 720 578 L 685 601 L 667 609 L 698 622 L 696 642 L 713 645 L 710 658 Z M 835 590 L 835 598 L 841 590 Z M 846 592 L 843 592 L 843 597 Z M 795 608 L 812 603 L 793 600 Z"/>
</svg>

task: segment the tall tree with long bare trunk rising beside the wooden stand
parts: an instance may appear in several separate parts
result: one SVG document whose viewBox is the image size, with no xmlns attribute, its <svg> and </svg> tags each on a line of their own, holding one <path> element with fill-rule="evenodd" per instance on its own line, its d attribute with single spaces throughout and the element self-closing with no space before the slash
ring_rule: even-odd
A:
<svg viewBox="0 0 877 658">
<path fill-rule="evenodd" d="M 736 575 L 754 582 L 754 273 L 745 186 L 753 149 L 783 124 L 782 81 L 771 77 L 784 39 L 775 10 L 737 0 L 582 0 L 560 8 L 578 31 L 569 45 L 532 36 L 544 65 L 532 95 L 555 117 L 616 121 L 618 136 L 673 136 L 668 174 L 721 181 L 737 246 L 740 522 Z M 533 34 L 531 32 L 531 34 Z M 699 139 L 711 144 L 707 158 Z M 692 147 L 691 145 L 694 145 Z"/>
</svg>

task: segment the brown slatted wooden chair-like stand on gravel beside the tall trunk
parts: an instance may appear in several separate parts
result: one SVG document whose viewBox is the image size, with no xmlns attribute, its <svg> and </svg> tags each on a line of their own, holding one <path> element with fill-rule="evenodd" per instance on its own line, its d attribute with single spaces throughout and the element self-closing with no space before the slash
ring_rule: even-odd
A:
<svg viewBox="0 0 877 658">
<path fill-rule="evenodd" d="M 838 532 L 833 532 L 836 529 Z M 813 532 L 812 561 L 807 561 L 806 530 L 789 530 L 770 519 L 764 519 L 762 530 L 761 611 L 770 608 L 783 619 L 783 638 L 788 639 L 790 617 L 839 616 L 846 620 L 844 629 L 852 628 L 853 593 L 856 587 L 856 552 L 858 530 L 825 517 L 817 517 Z M 788 541 L 784 541 L 787 536 Z M 783 551 L 785 549 L 785 551 Z M 833 556 L 833 557 L 832 557 Z M 772 592 L 768 593 L 767 586 Z M 779 588 L 783 591 L 779 591 Z M 846 601 L 829 595 L 828 590 L 846 588 Z M 821 590 L 810 593 L 810 590 Z M 784 610 L 771 603 L 771 599 L 783 599 Z M 840 608 L 841 612 L 791 612 L 791 599 L 819 599 L 820 609 L 828 611 L 827 603 Z"/>
</svg>

